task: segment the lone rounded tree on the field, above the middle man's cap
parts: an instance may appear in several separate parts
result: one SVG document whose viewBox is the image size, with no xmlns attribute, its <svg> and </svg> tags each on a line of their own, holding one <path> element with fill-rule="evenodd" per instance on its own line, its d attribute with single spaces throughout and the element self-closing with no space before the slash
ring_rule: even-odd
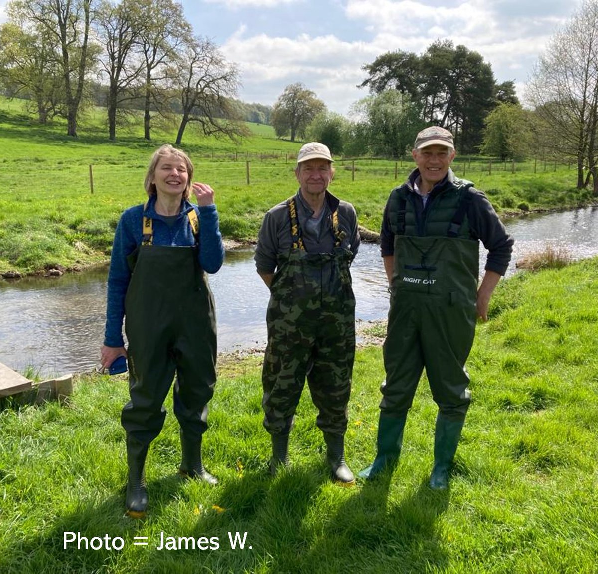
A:
<svg viewBox="0 0 598 574">
<path fill-rule="evenodd" d="M 291 141 L 305 135 L 309 123 L 325 109 L 324 102 L 300 82 L 289 84 L 278 97 L 272 108 L 271 123 L 280 138 L 289 132 Z"/>
</svg>

